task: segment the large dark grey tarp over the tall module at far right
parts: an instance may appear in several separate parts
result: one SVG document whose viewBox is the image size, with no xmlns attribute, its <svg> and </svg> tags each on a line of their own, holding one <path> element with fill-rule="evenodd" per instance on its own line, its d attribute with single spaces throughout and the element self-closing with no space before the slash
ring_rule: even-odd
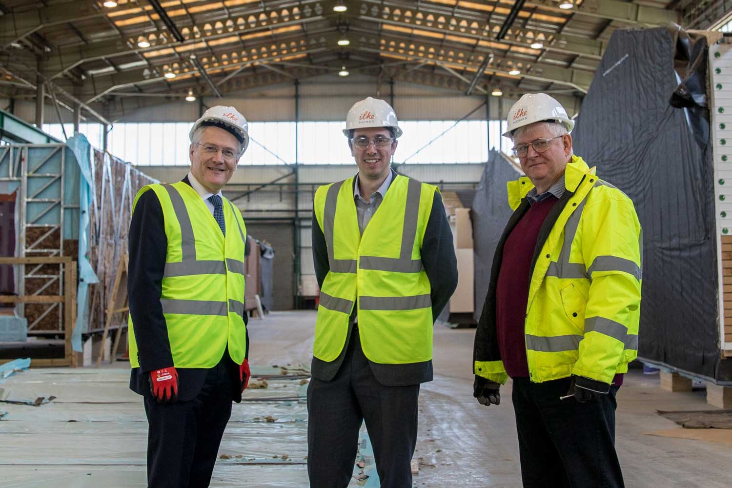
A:
<svg viewBox="0 0 732 488">
<path fill-rule="evenodd" d="M 643 226 L 638 355 L 727 381 L 732 364 L 720 359 L 712 147 L 698 119 L 706 115 L 708 124 L 709 110 L 669 102 L 680 82 L 695 89 L 676 74 L 675 60 L 693 70 L 706 67 L 687 54 L 706 50 L 681 46 L 684 35 L 665 28 L 616 31 L 572 137 L 575 154 L 632 198 Z"/>
</svg>

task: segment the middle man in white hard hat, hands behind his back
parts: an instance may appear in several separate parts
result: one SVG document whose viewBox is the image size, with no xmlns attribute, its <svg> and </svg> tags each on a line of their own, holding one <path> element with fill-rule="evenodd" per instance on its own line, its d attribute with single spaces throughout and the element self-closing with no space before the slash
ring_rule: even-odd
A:
<svg viewBox="0 0 732 488">
<path fill-rule="evenodd" d="M 408 488 L 433 323 L 458 282 L 455 249 L 438 189 L 391 168 L 402 135 L 394 109 L 368 97 L 343 132 L 358 173 L 315 192 L 307 472 L 313 488 L 348 486 L 365 421 L 380 486 Z"/>
</svg>

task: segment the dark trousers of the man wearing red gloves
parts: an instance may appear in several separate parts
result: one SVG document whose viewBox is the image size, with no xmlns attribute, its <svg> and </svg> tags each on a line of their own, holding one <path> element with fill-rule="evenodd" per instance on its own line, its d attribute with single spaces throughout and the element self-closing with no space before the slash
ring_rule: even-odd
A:
<svg viewBox="0 0 732 488">
<path fill-rule="evenodd" d="M 225 356 L 226 357 L 226 356 Z M 160 404 L 146 395 L 149 488 L 206 488 L 231 417 L 233 379 L 224 360 L 188 402 Z"/>
</svg>

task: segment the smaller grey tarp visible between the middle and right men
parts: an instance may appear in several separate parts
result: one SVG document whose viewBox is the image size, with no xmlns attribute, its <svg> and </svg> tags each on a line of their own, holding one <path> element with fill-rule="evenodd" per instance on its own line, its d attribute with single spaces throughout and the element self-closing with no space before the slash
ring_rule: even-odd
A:
<svg viewBox="0 0 732 488">
<path fill-rule="evenodd" d="M 477 321 L 483 310 L 485 294 L 490 282 L 493 253 L 501 239 L 504 227 L 511 217 L 506 184 L 518 179 L 520 173 L 498 151 L 490 151 L 488 162 L 475 189 L 471 219 L 473 221 L 473 263 L 475 276 L 475 308 Z"/>
</svg>

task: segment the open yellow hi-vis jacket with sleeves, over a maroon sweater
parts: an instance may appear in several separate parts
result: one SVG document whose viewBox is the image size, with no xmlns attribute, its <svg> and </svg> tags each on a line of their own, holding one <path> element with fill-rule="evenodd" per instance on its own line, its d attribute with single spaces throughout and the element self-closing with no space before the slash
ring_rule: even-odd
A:
<svg viewBox="0 0 732 488">
<path fill-rule="evenodd" d="M 580 157 L 564 173 L 566 191 L 539 235 L 526 304 L 526 359 L 531 381 L 578 375 L 610 384 L 638 355 L 641 306 L 641 224 L 630 198 L 602 181 Z M 493 260 L 478 322 L 474 373 L 505 383 L 496 339 L 496 282 L 504 243 L 529 208 L 528 178 L 508 184 L 515 211 Z M 547 225 L 547 222 L 545 222 Z M 542 227 L 543 228 L 543 227 Z"/>
</svg>

